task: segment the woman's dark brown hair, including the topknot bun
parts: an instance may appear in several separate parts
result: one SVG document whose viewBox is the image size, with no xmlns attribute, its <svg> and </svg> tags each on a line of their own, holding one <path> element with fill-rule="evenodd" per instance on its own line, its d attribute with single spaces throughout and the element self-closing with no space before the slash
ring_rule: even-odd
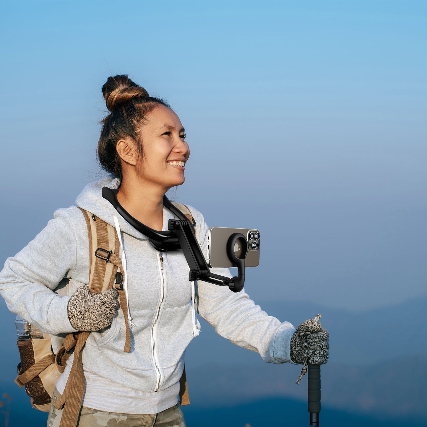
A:
<svg viewBox="0 0 427 427">
<path fill-rule="evenodd" d="M 148 92 L 132 82 L 127 74 L 108 77 L 102 86 L 102 95 L 108 114 L 99 123 L 102 124 L 97 147 L 97 158 L 101 167 L 122 181 L 122 164 L 117 154 L 117 141 L 131 137 L 142 155 L 142 144 L 138 132 L 146 122 L 146 116 L 157 105 L 171 108 L 163 99 L 150 97 Z"/>
</svg>

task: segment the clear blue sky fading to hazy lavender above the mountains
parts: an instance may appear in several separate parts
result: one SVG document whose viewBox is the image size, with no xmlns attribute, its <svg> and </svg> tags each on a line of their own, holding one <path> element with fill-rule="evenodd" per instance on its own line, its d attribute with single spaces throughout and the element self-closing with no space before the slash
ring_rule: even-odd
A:
<svg viewBox="0 0 427 427">
<path fill-rule="evenodd" d="M 426 2 L 2 1 L 0 28 L 2 263 L 102 176 L 101 87 L 128 73 L 186 129 L 174 198 L 260 230 L 256 302 L 425 300 Z"/>
</svg>

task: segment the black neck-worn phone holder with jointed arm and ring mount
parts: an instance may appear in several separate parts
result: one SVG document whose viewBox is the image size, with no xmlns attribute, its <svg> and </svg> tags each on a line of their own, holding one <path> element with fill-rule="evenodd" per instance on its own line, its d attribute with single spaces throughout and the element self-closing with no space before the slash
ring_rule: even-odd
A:
<svg viewBox="0 0 427 427">
<path fill-rule="evenodd" d="M 193 282 L 202 280 L 218 286 L 228 286 L 233 292 L 240 292 L 245 284 L 245 259 L 248 253 L 248 241 L 241 233 L 231 234 L 227 241 L 227 255 L 230 261 L 237 267 L 238 276 L 232 278 L 211 273 L 205 257 L 200 249 L 199 242 L 194 235 L 194 227 L 190 220 L 176 208 L 169 199 L 163 197 L 163 205 L 179 219 L 170 219 L 168 231 L 157 231 L 147 227 L 126 212 L 117 200 L 118 189 L 102 188 L 102 197 L 117 210 L 120 215 L 129 222 L 132 227 L 148 237 L 151 246 L 159 252 L 181 251 L 190 267 L 188 280 Z M 234 244 L 240 241 L 242 253 L 237 257 L 234 252 Z"/>
</svg>

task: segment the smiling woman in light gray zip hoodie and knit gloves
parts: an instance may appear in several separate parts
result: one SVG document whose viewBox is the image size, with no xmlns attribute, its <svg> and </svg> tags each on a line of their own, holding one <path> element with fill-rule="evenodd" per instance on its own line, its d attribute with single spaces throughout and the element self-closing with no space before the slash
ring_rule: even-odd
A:
<svg viewBox="0 0 427 427">
<path fill-rule="evenodd" d="M 328 334 L 307 321 L 297 331 L 260 310 L 245 292 L 188 281 L 182 252 L 160 253 L 102 197 L 102 187 L 119 188 L 117 200 L 135 219 L 167 230 L 173 214 L 164 194 L 184 183 L 190 149 L 178 116 L 162 100 L 150 97 L 126 75 L 109 77 L 102 87 L 110 114 L 102 120 L 98 158 L 110 173 L 87 185 L 76 205 L 114 226 L 126 259 L 129 319 L 117 310 L 117 291 L 94 298 L 88 290 L 88 232 L 76 206 L 58 209 L 47 227 L 0 273 L 0 292 L 9 309 L 55 337 L 91 331 L 83 351 L 86 389 L 79 426 L 184 426 L 178 405 L 184 352 L 199 323 L 196 309 L 216 332 L 234 344 L 257 351 L 265 362 L 313 363 L 328 360 Z M 188 207 L 196 236 L 206 253 L 208 226 Z M 212 269 L 231 277 L 228 269 Z M 66 280 L 63 280 L 63 279 Z M 61 282 L 62 281 L 62 282 Z M 61 286 L 58 287 L 58 283 Z M 194 286 L 194 285 L 193 285 Z M 192 298 L 196 292 L 196 298 Z M 132 350 L 123 352 L 125 322 L 132 328 Z M 305 331 L 307 335 L 300 338 Z M 64 391 L 73 357 L 59 377 L 53 402 Z M 51 406 L 49 426 L 59 425 L 62 409 Z M 120 424 L 121 425 L 121 424 Z"/>
</svg>

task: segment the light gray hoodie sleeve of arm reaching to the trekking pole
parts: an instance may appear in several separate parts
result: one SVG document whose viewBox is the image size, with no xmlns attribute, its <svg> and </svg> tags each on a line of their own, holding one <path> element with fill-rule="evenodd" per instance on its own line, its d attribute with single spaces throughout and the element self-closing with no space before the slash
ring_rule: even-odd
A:
<svg viewBox="0 0 427 427">
<path fill-rule="evenodd" d="M 202 214 L 189 206 L 196 220 L 197 240 L 202 253 L 207 253 L 208 225 Z M 232 277 L 227 268 L 211 268 L 211 272 Z M 195 283 L 196 308 L 200 316 L 212 325 L 216 333 L 233 344 L 256 351 L 266 363 L 293 363 L 290 341 L 295 328 L 261 310 L 243 289 L 231 292 L 205 281 Z"/>
</svg>

